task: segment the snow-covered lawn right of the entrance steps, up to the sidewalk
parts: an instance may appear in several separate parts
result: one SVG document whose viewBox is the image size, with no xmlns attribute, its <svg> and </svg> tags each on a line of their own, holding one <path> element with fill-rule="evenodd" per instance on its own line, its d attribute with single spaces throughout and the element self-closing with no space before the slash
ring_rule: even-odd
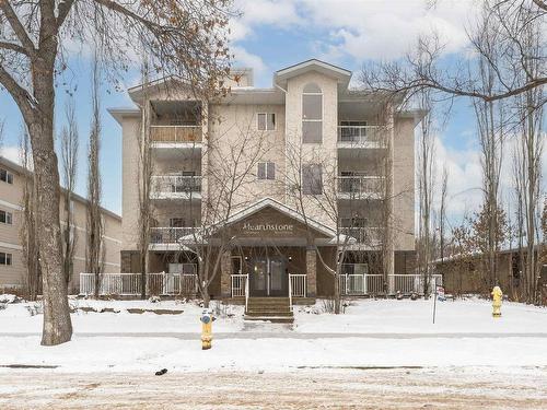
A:
<svg viewBox="0 0 547 410">
<path fill-rule="evenodd" d="M 315 309 L 321 308 L 321 302 Z M 299 332 L 352 333 L 544 333 L 547 336 L 547 308 L 504 303 L 500 319 L 492 318 L 489 301 L 472 298 L 437 303 L 433 301 L 360 300 L 346 308 L 346 314 L 315 315 L 309 308 L 296 308 Z"/>
</svg>

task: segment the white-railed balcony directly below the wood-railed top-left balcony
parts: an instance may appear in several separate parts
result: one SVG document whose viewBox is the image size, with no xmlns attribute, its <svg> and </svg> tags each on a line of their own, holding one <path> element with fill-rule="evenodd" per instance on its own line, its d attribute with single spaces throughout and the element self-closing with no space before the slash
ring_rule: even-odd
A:
<svg viewBox="0 0 547 410">
<path fill-rule="evenodd" d="M 201 199 L 201 176 L 154 175 L 150 198 Z"/>
</svg>

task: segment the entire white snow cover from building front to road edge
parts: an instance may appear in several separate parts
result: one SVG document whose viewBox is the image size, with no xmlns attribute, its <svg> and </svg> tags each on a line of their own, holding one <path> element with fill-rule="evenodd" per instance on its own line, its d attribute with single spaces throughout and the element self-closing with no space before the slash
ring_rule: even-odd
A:
<svg viewBox="0 0 547 410">
<path fill-rule="evenodd" d="M 547 309 L 505 303 L 491 317 L 488 301 L 352 301 L 344 315 L 295 306 L 290 330 L 248 327 L 243 306 L 223 306 L 213 323 L 213 348 L 202 351 L 194 302 L 72 300 L 72 341 L 40 347 L 42 315 L 32 303 L 0 311 L 0 366 L 55 365 L 54 372 L 291 371 L 369 366 L 496 366 L 509 371 L 547 366 Z M 130 314 L 128 308 L 184 311 L 177 315 Z M 266 332 L 269 331 L 269 332 Z M 184 337 L 183 337 L 184 336 Z M 539 366 L 539 367 L 538 367 Z M 0 367 L 0 373 L 9 372 Z"/>
</svg>

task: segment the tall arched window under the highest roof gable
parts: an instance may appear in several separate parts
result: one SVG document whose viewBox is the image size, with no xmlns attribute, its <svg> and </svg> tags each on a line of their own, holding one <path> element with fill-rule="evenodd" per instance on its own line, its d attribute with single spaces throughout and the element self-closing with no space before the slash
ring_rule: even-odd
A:
<svg viewBox="0 0 547 410">
<path fill-rule="evenodd" d="M 310 83 L 302 93 L 302 142 L 323 141 L 323 93 L 317 84 Z"/>
</svg>

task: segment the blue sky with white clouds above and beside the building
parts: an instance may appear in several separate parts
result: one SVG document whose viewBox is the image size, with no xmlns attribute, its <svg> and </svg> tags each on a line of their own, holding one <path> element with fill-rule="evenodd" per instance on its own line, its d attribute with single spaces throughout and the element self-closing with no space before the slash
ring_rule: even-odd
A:
<svg viewBox="0 0 547 410">
<path fill-rule="evenodd" d="M 430 3 L 433 3 L 431 5 Z M 359 73 L 371 61 L 404 58 L 421 34 L 435 31 L 445 43 L 445 60 L 465 58 L 466 30 L 476 15 L 473 0 L 236 0 L 241 16 L 233 19 L 231 50 L 235 67 L 254 69 L 256 86 L 271 86 L 272 73 L 310 58 L 344 67 L 353 72 L 352 85 L 359 86 Z M 74 48 L 68 83 L 77 86 L 75 107 L 80 130 L 80 155 L 77 191 L 85 196 L 86 145 L 91 122 L 90 60 Z M 126 87 L 136 85 L 137 71 L 120 79 Z M 63 124 L 67 93 L 57 91 L 57 128 Z M 103 120 L 101 169 L 103 204 L 121 213 L 121 129 L 107 108 L 129 107 L 125 90 L 102 86 Z M 467 99 L 458 99 L 435 139 L 435 164 L 439 173 L 449 173 L 449 216 L 457 223 L 475 211 L 481 201 L 480 160 L 473 110 Z M 0 120 L 5 130 L 2 154 L 18 159 L 21 115 L 5 93 L 0 91 Z M 544 155 L 545 157 L 546 155 Z M 547 157 L 544 161 L 544 174 Z M 510 196 L 510 164 L 503 167 L 501 192 Z M 439 178 L 440 179 L 440 178 Z"/>
</svg>

